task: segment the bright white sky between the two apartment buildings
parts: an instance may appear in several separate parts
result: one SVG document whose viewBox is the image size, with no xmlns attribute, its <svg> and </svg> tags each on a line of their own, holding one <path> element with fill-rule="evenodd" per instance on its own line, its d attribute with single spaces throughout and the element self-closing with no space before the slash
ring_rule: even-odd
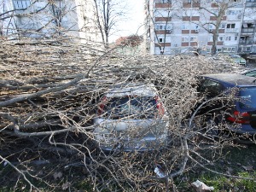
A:
<svg viewBox="0 0 256 192">
<path fill-rule="evenodd" d="M 127 2 L 127 8 L 129 14 L 125 20 L 120 21 L 119 32 L 115 32 L 113 36 L 110 37 L 110 42 L 115 42 L 119 37 L 125 37 L 132 34 L 143 34 L 143 20 L 144 11 L 143 4 L 144 0 L 124 0 Z M 140 27 L 142 26 L 142 27 Z M 140 27 L 140 28 L 139 28 Z M 139 30 L 138 30 L 139 29 Z"/>
</svg>

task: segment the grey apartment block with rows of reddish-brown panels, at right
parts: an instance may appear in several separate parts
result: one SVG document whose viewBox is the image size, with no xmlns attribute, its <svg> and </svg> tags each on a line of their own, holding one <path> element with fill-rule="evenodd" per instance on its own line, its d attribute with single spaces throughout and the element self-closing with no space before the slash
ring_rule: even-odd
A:
<svg viewBox="0 0 256 192">
<path fill-rule="evenodd" d="M 256 52 L 256 0 L 146 0 L 145 14 L 150 54 Z"/>
</svg>

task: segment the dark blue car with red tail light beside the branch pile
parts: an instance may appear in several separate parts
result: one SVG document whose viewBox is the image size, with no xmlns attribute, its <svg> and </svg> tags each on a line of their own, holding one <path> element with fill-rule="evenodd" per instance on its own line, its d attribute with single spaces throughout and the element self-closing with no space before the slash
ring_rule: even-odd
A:
<svg viewBox="0 0 256 192">
<path fill-rule="evenodd" d="M 202 108 L 201 114 L 211 111 L 211 114 L 218 117 L 214 119 L 215 123 L 227 123 L 228 131 L 250 135 L 256 133 L 256 78 L 216 73 L 201 75 L 199 81 L 198 91 L 207 100 L 221 95 L 230 96 L 231 90 L 235 91 L 235 98 L 230 102 L 215 102 L 212 106 Z"/>
</svg>

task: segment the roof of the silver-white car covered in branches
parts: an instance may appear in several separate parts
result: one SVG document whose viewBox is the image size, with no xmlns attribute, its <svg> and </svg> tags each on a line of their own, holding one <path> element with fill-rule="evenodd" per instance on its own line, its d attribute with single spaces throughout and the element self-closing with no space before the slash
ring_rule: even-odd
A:
<svg viewBox="0 0 256 192">
<path fill-rule="evenodd" d="M 154 84 L 116 84 L 105 95 L 107 97 L 120 96 L 157 96 Z"/>
</svg>

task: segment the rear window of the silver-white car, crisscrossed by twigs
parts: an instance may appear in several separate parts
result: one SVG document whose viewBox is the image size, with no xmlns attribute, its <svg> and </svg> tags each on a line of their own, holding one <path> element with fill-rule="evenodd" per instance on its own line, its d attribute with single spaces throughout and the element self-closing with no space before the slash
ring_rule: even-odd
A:
<svg viewBox="0 0 256 192">
<path fill-rule="evenodd" d="M 132 118 L 154 118 L 157 111 L 156 100 L 147 96 L 123 96 L 108 98 L 104 106 L 105 116 L 111 118 L 122 118 L 131 116 Z"/>
</svg>

